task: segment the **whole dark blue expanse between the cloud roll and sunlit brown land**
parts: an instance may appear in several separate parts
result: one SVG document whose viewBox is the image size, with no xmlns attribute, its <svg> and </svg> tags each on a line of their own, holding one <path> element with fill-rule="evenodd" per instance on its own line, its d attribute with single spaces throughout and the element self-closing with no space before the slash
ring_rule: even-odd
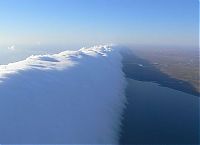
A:
<svg viewBox="0 0 200 145">
<path fill-rule="evenodd" d="M 198 92 L 130 53 L 124 58 L 128 104 L 120 143 L 198 144 Z"/>
</svg>

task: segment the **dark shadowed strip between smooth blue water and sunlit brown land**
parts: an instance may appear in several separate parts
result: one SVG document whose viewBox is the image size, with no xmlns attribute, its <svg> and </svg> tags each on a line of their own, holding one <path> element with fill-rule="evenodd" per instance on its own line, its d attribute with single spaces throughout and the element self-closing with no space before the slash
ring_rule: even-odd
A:
<svg viewBox="0 0 200 145">
<path fill-rule="evenodd" d="M 177 80 L 161 72 L 149 61 L 134 55 L 133 51 L 126 49 L 122 52 L 124 72 L 127 78 L 134 80 L 155 82 L 163 87 L 199 96 L 199 92 L 188 82 Z M 142 65 L 142 66 L 141 66 Z"/>
</svg>

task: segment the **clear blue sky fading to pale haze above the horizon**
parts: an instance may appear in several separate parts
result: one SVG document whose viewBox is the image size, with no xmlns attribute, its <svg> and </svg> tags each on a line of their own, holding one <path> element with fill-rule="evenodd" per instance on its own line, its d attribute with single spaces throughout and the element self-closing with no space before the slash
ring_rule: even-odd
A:
<svg viewBox="0 0 200 145">
<path fill-rule="evenodd" d="M 198 45 L 198 0 L 0 0 L 0 48 Z"/>
</svg>

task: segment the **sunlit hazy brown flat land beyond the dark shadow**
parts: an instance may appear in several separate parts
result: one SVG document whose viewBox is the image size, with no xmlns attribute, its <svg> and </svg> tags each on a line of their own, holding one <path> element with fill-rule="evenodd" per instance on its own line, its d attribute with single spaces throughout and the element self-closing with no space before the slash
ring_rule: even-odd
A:
<svg viewBox="0 0 200 145">
<path fill-rule="evenodd" d="M 200 92 L 198 48 L 134 48 L 133 52 L 161 72 L 190 83 Z"/>
</svg>

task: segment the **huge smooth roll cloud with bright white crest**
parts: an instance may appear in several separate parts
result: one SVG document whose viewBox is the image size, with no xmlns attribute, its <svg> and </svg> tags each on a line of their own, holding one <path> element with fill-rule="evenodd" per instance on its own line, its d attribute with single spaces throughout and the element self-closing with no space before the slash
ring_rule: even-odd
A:
<svg viewBox="0 0 200 145">
<path fill-rule="evenodd" d="M 0 142 L 117 144 L 122 57 L 110 46 L 0 65 Z"/>
</svg>

